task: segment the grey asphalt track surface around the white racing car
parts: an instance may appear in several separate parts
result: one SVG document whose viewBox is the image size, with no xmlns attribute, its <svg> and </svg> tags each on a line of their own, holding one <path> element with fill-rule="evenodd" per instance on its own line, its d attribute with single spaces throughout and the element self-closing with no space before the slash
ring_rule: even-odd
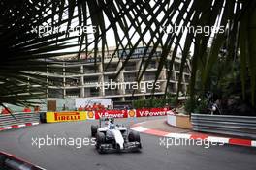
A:
<svg viewBox="0 0 256 170">
<path fill-rule="evenodd" d="M 140 118 L 142 122 L 148 118 Z M 150 118 L 158 119 L 158 118 Z M 127 120 L 116 120 L 127 123 Z M 256 148 L 241 146 L 160 146 L 157 136 L 141 134 L 140 153 L 100 155 L 94 146 L 38 146 L 32 138 L 90 137 L 90 125 L 97 121 L 41 124 L 0 132 L 0 150 L 33 162 L 48 170 L 255 170 Z"/>
</svg>

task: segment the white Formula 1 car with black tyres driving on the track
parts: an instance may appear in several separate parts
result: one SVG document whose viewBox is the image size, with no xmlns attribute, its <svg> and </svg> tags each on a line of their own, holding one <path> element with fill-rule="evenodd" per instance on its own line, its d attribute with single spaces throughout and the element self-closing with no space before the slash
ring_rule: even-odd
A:
<svg viewBox="0 0 256 170">
<path fill-rule="evenodd" d="M 102 127 L 102 123 L 105 127 Z M 100 126 L 91 126 L 91 135 L 96 137 L 96 149 L 99 153 L 140 151 L 142 148 L 139 132 L 128 131 L 124 126 L 114 125 L 113 118 L 101 118 Z"/>
</svg>

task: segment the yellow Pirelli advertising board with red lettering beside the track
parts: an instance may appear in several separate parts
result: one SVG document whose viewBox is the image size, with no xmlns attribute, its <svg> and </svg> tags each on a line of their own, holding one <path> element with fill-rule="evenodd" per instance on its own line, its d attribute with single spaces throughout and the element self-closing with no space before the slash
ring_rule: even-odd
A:
<svg viewBox="0 0 256 170">
<path fill-rule="evenodd" d="M 79 111 L 63 111 L 63 112 L 47 112 L 47 122 L 72 122 L 86 120 L 87 112 Z"/>
</svg>

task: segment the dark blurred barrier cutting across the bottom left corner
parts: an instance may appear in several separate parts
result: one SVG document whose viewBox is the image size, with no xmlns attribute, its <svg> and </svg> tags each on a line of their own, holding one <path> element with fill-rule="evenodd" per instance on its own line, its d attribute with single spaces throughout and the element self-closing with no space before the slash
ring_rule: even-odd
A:
<svg viewBox="0 0 256 170">
<path fill-rule="evenodd" d="M 0 169 L 1 168 L 14 170 L 44 170 L 39 166 L 33 165 L 25 160 L 4 152 L 0 152 Z"/>
</svg>

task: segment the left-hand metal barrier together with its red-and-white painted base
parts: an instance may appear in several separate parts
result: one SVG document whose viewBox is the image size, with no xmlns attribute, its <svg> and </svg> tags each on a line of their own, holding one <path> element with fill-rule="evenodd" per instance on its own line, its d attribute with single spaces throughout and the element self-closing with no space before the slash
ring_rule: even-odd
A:
<svg viewBox="0 0 256 170">
<path fill-rule="evenodd" d="M 40 122 L 40 113 L 13 113 L 0 115 L 0 130 L 20 128 L 38 124 Z"/>
</svg>

